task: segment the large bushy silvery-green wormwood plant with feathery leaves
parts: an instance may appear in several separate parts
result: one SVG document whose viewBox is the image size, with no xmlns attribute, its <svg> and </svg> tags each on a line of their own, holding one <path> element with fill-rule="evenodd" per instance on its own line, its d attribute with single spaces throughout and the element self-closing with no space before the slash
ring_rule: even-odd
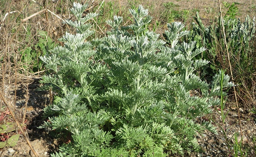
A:
<svg viewBox="0 0 256 157">
<path fill-rule="evenodd" d="M 196 133 L 216 132 L 196 119 L 211 113 L 220 94 L 220 75 L 211 84 L 195 75 L 208 63 L 194 58 L 205 49 L 179 44 L 189 33 L 179 22 L 169 24 L 166 41 L 160 40 L 148 31 L 151 17 L 142 6 L 130 10 L 134 24 L 121 26 L 122 17 L 115 16 L 106 37 L 89 41 L 96 14 L 82 17 L 86 7 L 74 3 L 77 21 L 66 23 L 76 34 L 66 33 L 59 39 L 64 46 L 41 57 L 52 72 L 41 83 L 57 93 L 41 127 L 70 140 L 52 156 L 166 157 L 198 150 Z M 224 76 L 224 87 L 232 86 L 228 80 Z M 200 96 L 190 95 L 198 89 Z"/>
</svg>

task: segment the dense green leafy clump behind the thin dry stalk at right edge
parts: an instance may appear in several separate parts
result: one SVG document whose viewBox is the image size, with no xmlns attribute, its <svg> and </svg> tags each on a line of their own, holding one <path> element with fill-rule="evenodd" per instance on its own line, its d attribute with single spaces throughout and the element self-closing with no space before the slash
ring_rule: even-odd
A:
<svg viewBox="0 0 256 157">
<path fill-rule="evenodd" d="M 226 69 L 228 62 L 220 16 L 217 18 L 217 22 L 210 26 L 202 24 L 198 13 L 194 19 L 196 23 L 192 24 L 191 40 L 197 41 L 197 46 L 206 47 L 207 50 L 201 56 L 211 60 L 211 64 L 203 69 L 203 75 L 211 75 L 213 71 Z M 240 97 L 253 103 L 255 99 L 251 93 L 255 93 L 256 82 L 255 20 L 247 16 L 242 21 L 240 18 L 227 15 L 224 16 L 224 28 L 232 71 Z M 227 72 L 230 73 L 228 69 Z"/>
</svg>

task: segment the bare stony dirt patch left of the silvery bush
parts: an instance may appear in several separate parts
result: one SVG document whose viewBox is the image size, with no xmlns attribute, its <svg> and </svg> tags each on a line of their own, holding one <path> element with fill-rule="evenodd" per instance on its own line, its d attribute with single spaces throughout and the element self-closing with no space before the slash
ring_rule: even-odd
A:
<svg viewBox="0 0 256 157">
<path fill-rule="evenodd" d="M 15 111 L 15 116 L 22 124 L 26 136 L 30 140 L 31 145 L 40 157 L 50 156 L 50 152 L 56 149 L 57 141 L 52 139 L 48 135 L 48 131 L 45 129 L 39 129 L 38 127 L 43 124 L 43 108 L 49 104 L 49 93 L 48 91 L 38 91 L 37 88 L 40 86 L 38 82 L 38 77 L 29 77 L 23 75 L 24 80 L 29 80 L 30 82 L 20 81 L 17 83 L 16 90 L 16 103 L 15 103 L 15 86 L 14 82 L 10 86 L 6 85 L 5 93 L 6 98 L 9 96 L 12 104 L 15 104 L 13 111 Z M 28 84 L 28 86 L 26 86 Z M 28 88 L 27 88 L 28 87 Z M 26 106 L 27 104 L 27 106 Z M 4 106 L 1 106 L 4 108 Z M 2 113 L 6 110 L 1 110 Z M 1 120 L 0 124 L 5 124 L 6 122 L 13 122 L 11 115 L 3 114 L 4 119 Z M 20 130 L 16 128 L 13 134 L 20 134 L 19 141 L 16 146 L 12 148 L 0 148 L 0 157 L 34 157 L 30 147 L 24 139 L 24 136 L 20 133 Z M 8 139 L 7 139 L 8 140 Z"/>
</svg>

